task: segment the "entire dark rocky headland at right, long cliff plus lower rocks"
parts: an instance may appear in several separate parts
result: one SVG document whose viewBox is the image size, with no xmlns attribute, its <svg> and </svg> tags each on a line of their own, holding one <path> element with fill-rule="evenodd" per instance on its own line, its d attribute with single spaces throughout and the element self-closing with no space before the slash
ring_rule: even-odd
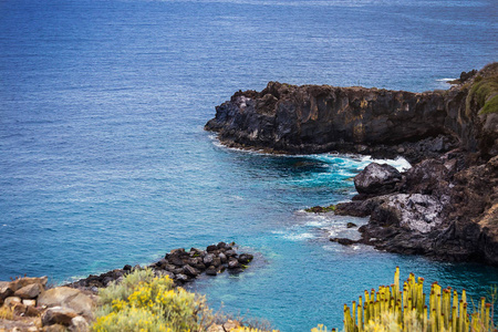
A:
<svg viewBox="0 0 498 332">
<path fill-rule="evenodd" d="M 498 266 L 498 63 L 447 91 L 289 85 L 237 92 L 206 129 L 231 147 L 270 153 L 403 156 L 373 164 L 335 214 L 371 216 L 362 242 L 443 260 Z"/>
</svg>

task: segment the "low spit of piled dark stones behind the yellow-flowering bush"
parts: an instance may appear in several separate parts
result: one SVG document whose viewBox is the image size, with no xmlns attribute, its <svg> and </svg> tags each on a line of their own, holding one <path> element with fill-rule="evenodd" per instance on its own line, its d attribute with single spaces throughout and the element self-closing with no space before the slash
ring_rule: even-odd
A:
<svg viewBox="0 0 498 332">
<path fill-rule="evenodd" d="M 197 248 L 191 248 L 189 251 L 184 248 L 174 249 L 147 268 L 154 270 L 157 276 L 169 276 L 176 284 L 181 286 L 193 281 L 201 273 L 217 276 L 225 270 L 229 273 L 240 273 L 252 259 L 253 256 L 250 253 L 238 253 L 236 243 L 219 242 L 208 246 L 204 250 Z M 123 269 L 115 269 L 100 276 L 89 276 L 68 286 L 96 291 L 110 282 L 120 282 L 123 276 L 134 269 L 141 269 L 141 267 L 126 264 Z"/>
</svg>

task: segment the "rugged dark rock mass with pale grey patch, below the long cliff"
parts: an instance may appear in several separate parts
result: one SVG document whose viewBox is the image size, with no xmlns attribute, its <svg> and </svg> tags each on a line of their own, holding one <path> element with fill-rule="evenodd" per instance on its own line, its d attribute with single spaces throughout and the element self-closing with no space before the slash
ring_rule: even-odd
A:
<svg viewBox="0 0 498 332">
<path fill-rule="evenodd" d="M 411 169 L 401 188 L 414 194 L 345 204 L 369 206 L 363 241 L 393 252 L 498 264 L 498 156 L 461 170 L 443 167 L 425 160 Z"/>
</svg>

